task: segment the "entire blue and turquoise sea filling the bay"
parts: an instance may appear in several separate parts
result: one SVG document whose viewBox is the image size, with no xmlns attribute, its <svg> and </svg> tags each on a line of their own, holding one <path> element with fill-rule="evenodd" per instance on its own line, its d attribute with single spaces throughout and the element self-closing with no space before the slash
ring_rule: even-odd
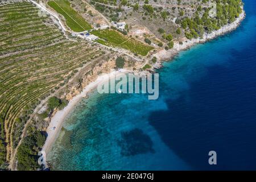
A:
<svg viewBox="0 0 256 182">
<path fill-rule="evenodd" d="M 82 100 L 49 154 L 52 169 L 256 169 L 256 1 L 244 2 L 237 30 L 164 63 L 158 100 Z"/>
</svg>

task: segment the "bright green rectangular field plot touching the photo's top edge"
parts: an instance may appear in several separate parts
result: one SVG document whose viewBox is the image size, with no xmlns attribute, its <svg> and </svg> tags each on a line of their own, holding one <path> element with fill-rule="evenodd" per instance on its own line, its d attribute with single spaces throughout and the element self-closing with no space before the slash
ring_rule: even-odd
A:
<svg viewBox="0 0 256 182">
<path fill-rule="evenodd" d="M 67 0 L 49 1 L 51 6 L 57 13 L 64 16 L 67 26 L 76 32 L 82 32 L 92 29 L 92 26 L 82 18 L 72 7 Z"/>
</svg>

